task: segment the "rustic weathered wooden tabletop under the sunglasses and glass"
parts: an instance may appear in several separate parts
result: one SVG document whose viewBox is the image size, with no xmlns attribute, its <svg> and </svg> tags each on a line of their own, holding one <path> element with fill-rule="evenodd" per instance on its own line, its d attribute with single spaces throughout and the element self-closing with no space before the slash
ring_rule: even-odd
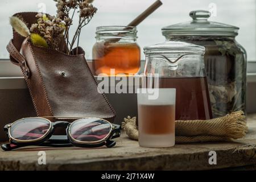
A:
<svg viewBox="0 0 256 182">
<path fill-rule="evenodd" d="M 27 147 L 0 151 L 0 170 L 256 169 L 256 114 L 248 115 L 247 123 L 249 132 L 236 142 L 144 148 L 122 134 L 114 148 Z M 39 151 L 46 152 L 46 165 L 38 164 Z M 209 151 L 217 152 L 216 165 L 209 164 Z"/>
</svg>

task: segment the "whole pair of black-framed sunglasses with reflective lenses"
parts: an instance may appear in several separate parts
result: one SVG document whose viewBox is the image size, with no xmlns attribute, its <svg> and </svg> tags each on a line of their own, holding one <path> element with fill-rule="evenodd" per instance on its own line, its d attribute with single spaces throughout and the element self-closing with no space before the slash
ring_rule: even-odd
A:
<svg viewBox="0 0 256 182">
<path fill-rule="evenodd" d="M 47 118 L 75 119 L 51 122 Z M 65 127 L 67 135 L 53 135 L 56 127 Z M 120 137 L 121 127 L 100 118 L 31 117 L 22 118 L 4 127 L 9 144 L 2 149 L 10 151 L 25 146 L 49 147 L 113 147 L 113 138 Z"/>
</svg>

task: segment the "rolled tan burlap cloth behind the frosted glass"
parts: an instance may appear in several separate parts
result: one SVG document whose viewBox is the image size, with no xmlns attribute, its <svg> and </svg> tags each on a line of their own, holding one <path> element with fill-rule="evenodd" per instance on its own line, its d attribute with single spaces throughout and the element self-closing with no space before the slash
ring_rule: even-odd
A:
<svg viewBox="0 0 256 182">
<path fill-rule="evenodd" d="M 136 117 L 124 118 L 122 129 L 130 139 L 138 140 Z M 175 121 L 175 143 L 230 141 L 244 137 L 246 131 L 242 111 L 209 120 Z"/>
</svg>

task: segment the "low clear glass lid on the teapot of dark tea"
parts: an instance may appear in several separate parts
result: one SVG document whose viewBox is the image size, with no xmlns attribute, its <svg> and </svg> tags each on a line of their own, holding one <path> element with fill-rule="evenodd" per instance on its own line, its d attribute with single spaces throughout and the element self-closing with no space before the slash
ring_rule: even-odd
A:
<svg viewBox="0 0 256 182">
<path fill-rule="evenodd" d="M 164 43 L 144 47 L 145 55 L 158 53 L 193 53 L 204 55 L 205 47 L 177 41 L 167 41 Z"/>
</svg>

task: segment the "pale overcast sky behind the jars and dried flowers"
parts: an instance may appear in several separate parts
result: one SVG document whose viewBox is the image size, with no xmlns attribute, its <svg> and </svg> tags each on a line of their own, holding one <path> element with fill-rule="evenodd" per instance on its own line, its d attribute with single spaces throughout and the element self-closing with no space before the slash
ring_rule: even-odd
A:
<svg viewBox="0 0 256 182">
<path fill-rule="evenodd" d="M 126 25 L 139 15 L 155 0 L 95 0 L 94 6 L 98 8 L 92 21 L 84 27 L 81 35 L 81 46 L 85 49 L 86 58 L 92 58 L 92 46 L 95 43 L 97 26 Z M 161 28 L 174 23 L 191 20 L 189 11 L 209 10 L 209 6 L 216 5 L 216 16 L 210 20 L 232 24 L 240 27 L 237 41 L 246 48 L 249 60 L 256 60 L 256 14 L 255 0 L 162 0 L 163 5 L 150 17 L 138 26 L 138 44 L 144 46 L 164 41 Z M 11 39 L 9 16 L 22 11 L 45 10 L 55 15 L 56 8 L 53 0 L 1 0 L 0 1 L 0 58 L 9 57 L 6 44 Z M 142 59 L 144 59 L 142 52 Z"/>
</svg>

